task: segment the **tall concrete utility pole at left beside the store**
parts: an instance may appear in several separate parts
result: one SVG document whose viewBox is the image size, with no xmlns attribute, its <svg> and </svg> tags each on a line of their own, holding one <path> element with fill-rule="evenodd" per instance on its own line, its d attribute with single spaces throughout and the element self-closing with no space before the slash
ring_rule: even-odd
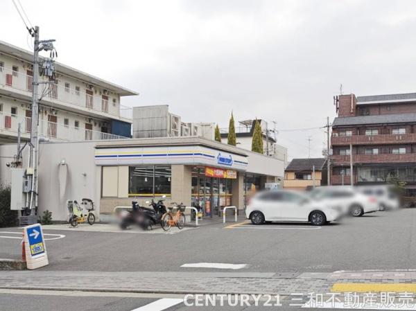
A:
<svg viewBox="0 0 416 311">
<path fill-rule="evenodd" d="M 35 202 L 37 199 L 37 126 L 39 124 L 39 107 L 37 105 L 37 98 L 39 97 L 37 94 L 37 89 L 39 86 L 39 26 L 35 26 L 35 30 L 33 33 L 35 37 L 35 44 L 33 48 L 33 95 L 32 95 L 32 121 L 31 121 L 31 150 L 29 152 L 30 157 L 30 167 L 33 168 L 33 182 L 32 182 L 32 193 L 31 193 L 31 200 L 29 203 L 29 208 L 31 208 L 31 215 L 35 215 Z"/>
</svg>

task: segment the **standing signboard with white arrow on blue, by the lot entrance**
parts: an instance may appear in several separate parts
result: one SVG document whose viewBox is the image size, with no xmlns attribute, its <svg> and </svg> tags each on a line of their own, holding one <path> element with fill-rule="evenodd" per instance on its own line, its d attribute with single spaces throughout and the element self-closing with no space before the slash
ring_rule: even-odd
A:
<svg viewBox="0 0 416 311">
<path fill-rule="evenodd" d="M 23 229 L 26 265 L 28 269 L 37 269 L 49 265 L 42 226 L 31 224 Z"/>
</svg>

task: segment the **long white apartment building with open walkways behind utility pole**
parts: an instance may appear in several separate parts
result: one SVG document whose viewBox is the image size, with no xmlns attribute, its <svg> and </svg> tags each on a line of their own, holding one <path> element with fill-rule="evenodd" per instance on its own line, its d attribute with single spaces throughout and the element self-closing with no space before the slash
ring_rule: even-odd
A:
<svg viewBox="0 0 416 311">
<path fill-rule="evenodd" d="M 0 143 L 15 142 L 19 124 L 21 138 L 30 137 L 32 62 L 33 53 L 0 41 Z M 132 109 L 120 102 L 138 95 L 135 91 L 58 62 L 55 67 L 56 83 L 39 87 L 40 136 L 50 141 L 131 137 Z"/>
</svg>

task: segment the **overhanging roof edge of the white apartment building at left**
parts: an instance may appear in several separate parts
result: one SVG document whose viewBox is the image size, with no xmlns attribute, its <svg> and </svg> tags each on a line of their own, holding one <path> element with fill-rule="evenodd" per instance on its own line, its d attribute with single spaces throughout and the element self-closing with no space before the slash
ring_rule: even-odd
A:
<svg viewBox="0 0 416 311">
<path fill-rule="evenodd" d="M 26 62 L 33 62 L 33 53 L 24 50 L 23 48 L 19 48 L 12 44 L 8 44 L 7 42 L 3 42 L 0 40 L 0 53 L 5 55 L 9 55 L 10 57 L 16 57 L 20 60 L 24 60 Z M 56 71 L 59 73 L 63 73 L 64 75 L 69 75 L 73 78 L 83 80 L 87 83 L 92 85 L 97 85 L 99 87 L 103 87 L 104 89 L 108 89 L 109 91 L 114 91 L 121 96 L 129 96 L 129 95 L 139 95 L 136 91 L 131 91 L 130 89 L 126 89 L 125 87 L 120 87 L 112 82 L 108 82 L 101 78 L 97 78 L 94 75 L 90 75 L 89 73 L 85 73 L 83 71 L 79 71 L 78 69 L 74 69 L 70 66 L 61 64 L 60 62 L 55 62 Z"/>
</svg>

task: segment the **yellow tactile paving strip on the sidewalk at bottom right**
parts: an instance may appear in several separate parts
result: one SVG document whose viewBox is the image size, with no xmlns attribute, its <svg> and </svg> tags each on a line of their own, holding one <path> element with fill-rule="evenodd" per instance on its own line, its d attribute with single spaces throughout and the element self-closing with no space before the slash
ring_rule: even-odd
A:
<svg viewBox="0 0 416 311">
<path fill-rule="evenodd" d="M 331 292 L 413 292 L 413 283 L 335 283 Z"/>
</svg>

